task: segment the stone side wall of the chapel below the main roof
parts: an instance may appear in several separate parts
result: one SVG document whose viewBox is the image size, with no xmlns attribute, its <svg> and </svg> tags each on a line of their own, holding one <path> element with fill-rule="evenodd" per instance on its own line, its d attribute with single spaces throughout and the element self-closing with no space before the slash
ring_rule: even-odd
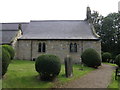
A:
<svg viewBox="0 0 120 90">
<path fill-rule="evenodd" d="M 45 42 L 46 52 L 38 52 L 38 44 Z M 70 43 L 77 43 L 77 52 L 70 52 Z M 54 54 L 61 58 L 69 55 L 74 63 L 80 62 L 81 53 L 86 48 L 94 48 L 98 53 L 101 53 L 100 41 L 81 41 L 81 40 L 18 40 L 17 42 L 17 59 L 33 60 L 42 54 Z"/>
</svg>

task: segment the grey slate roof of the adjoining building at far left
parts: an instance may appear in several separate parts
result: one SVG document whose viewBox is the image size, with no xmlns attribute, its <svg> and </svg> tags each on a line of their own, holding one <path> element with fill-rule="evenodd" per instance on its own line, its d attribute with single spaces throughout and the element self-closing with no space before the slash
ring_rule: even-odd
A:
<svg viewBox="0 0 120 90">
<path fill-rule="evenodd" d="M 10 44 L 18 32 L 18 25 L 21 24 L 22 31 L 26 30 L 28 23 L 0 23 L 0 44 Z"/>
</svg>

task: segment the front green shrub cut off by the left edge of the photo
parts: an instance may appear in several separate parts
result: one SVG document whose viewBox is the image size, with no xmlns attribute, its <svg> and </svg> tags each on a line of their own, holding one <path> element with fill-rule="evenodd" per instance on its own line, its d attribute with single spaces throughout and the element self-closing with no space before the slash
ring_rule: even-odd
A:
<svg viewBox="0 0 120 90">
<path fill-rule="evenodd" d="M 2 60 L 2 76 L 4 76 L 10 63 L 10 54 L 4 48 L 2 48 L 0 59 Z"/>
</svg>

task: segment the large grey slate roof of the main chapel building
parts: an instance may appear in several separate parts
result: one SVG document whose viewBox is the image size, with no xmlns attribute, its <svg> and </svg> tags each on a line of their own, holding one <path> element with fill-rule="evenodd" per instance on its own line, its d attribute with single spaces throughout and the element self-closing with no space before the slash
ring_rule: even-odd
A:
<svg viewBox="0 0 120 90">
<path fill-rule="evenodd" d="M 91 39 L 91 26 L 84 20 L 45 20 L 31 21 L 20 39 Z"/>
</svg>

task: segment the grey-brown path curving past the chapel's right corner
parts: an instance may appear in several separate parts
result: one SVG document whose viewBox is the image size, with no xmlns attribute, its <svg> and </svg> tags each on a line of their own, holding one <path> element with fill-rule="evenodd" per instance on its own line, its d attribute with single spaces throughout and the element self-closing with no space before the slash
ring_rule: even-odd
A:
<svg viewBox="0 0 120 90">
<path fill-rule="evenodd" d="M 102 64 L 99 69 L 69 82 L 60 88 L 107 88 L 111 79 L 114 66 Z"/>
</svg>

